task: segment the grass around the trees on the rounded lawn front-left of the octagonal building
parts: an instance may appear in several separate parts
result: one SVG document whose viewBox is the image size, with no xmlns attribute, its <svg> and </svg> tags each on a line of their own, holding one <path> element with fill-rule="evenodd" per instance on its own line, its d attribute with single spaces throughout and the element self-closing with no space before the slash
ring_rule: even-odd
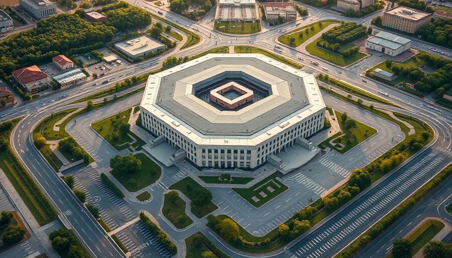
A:
<svg viewBox="0 0 452 258">
<path fill-rule="evenodd" d="M 141 160 L 141 169 L 135 173 L 120 175 L 117 171 L 111 170 L 110 173 L 124 186 L 128 191 L 134 192 L 155 183 L 160 177 L 161 168 L 143 153 L 135 154 Z M 151 173 L 152 172 L 152 173 Z M 136 185 L 129 183 L 130 179 L 136 180 Z"/>
</svg>

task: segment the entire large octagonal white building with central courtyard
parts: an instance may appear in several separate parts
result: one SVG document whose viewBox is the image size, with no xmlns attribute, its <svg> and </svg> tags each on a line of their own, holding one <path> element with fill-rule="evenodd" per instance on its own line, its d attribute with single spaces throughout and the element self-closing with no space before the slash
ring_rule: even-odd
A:
<svg viewBox="0 0 452 258">
<path fill-rule="evenodd" d="M 208 54 L 149 76 L 142 125 L 199 168 L 254 169 L 323 128 L 314 76 L 262 54 Z M 290 149 L 288 149 L 290 151 Z"/>
</svg>

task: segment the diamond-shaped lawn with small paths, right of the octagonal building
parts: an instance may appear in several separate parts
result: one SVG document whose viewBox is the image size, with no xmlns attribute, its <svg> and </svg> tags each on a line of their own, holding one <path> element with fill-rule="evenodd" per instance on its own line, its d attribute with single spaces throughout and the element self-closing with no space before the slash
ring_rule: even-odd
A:
<svg viewBox="0 0 452 258">
<path fill-rule="evenodd" d="M 336 113 L 336 117 L 337 117 L 337 122 L 339 123 L 339 126 L 341 126 L 342 132 L 339 132 L 339 133 L 337 133 L 337 134 L 331 136 L 330 138 L 326 139 L 325 141 L 323 141 L 323 142 L 321 143 L 323 146 L 327 146 L 327 147 L 329 147 L 329 148 L 331 148 L 331 149 L 333 149 L 333 150 L 336 150 L 336 151 L 339 152 L 339 153 L 344 154 L 344 153 L 346 153 L 347 151 L 349 151 L 350 149 L 352 149 L 353 147 L 355 147 L 355 146 L 357 146 L 358 144 L 364 142 L 367 138 L 369 138 L 369 137 L 371 137 L 371 136 L 373 136 L 374 134 L 377 133 L 377 130 L 375 130 L 374 128 L 372 128 L 372 127 L 370 127 L 370 126 L 368 126 L 368 125 L 366 125 L 366 124 L 364 124 L 364 123 L 362 123 L 362 122 L 360 122 L 360 121 L 358 121 L 358 120 L 355 120 L 355 119 L 353 119 L 353 118 L 351 118 L 351 117 L 348 117 L 348 119 L 353 119 L 353 120 L 355 120 L 355 122 L 356 122 L 356 128 L 353 128 L 353 129 L 351 130 L 351 135 L 352 135 L 353 137 L 352 137 L 352 139 L 350 139 L 349 142 L 347 142 L 346 136 L 343 136 L 343 137 L 341 137 L 341 138 L 339 138 L 339 139 L 336 139 L 336 140 L 333 142 L 333 143 L 342 143 L 342 144 L 345 145 L 345 147 L 344 147 L 343 149 L 339 149 L 339 148 L 337 148 L 335 145 L 331 145 L 331 144 L 329 143 L 329 141 L 330 141 L 331 139 L 334 139 L 334 138 L 336 138 L 336 137 L 342 135 L 343 132 L 345 132 L 344 129 L 343 129 L 343 126 L 342 126 L 342 119 L 341 119 L 342 113 L 341 113 L 341 112 L 337 112 L 337 111 L 335 111 L 335 113 Z M 348 119 L 347 119 L 347 120 L 348 120 Z M 366 133 L 366 130 L 368 131 L 367 133 Z M 354 139 L 354 137 L 356 137 L 356 139 Z M 347 144 L 345 144 L 345 143 L 347 143 Z"/>
</svg>

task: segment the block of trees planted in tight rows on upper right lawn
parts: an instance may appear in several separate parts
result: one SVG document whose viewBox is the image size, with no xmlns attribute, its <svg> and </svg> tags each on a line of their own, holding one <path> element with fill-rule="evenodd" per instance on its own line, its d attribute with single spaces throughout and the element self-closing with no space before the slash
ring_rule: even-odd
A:
<svg viewBox="0 0 452 258">
<path fill-rule="evenodd" d="M 330 44 L 340 45 L 352 42 L 367 35 L 367 28 L 356 22 L 341 22 L 340 26 L 333 27 L 322 34 L 322 39 Z"/>
</svg>

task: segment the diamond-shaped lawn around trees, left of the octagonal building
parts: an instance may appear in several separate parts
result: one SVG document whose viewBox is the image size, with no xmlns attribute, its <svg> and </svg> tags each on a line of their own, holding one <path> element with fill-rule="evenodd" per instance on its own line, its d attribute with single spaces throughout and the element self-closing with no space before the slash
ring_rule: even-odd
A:
<svg viewBox="0 0 452 258">
<path fill-rule="evenodd" d="M 117 115 L 112 115 L 107 118 L 104 118 L 102 120 L 99 120 L 95 123 L 91 124 L 91 127 L 103 138 L 105 141 L 107 141 L 111 146 L 113 146 L 117 151 L 122 151 L 130 147 L 130 144 L 133 140 L 128 135 L 122 135 L 121 139 L 118 141 L 115 141 L 111 139 L 111 134 L 115 131 L 119 131 L 117 127 L 115 127 L 114 122 L 115 120 L 122 119 L 125 122 L 129 121 L 130 112 L 132 112 L 132 108 L 129 108 L 125 111 L 120 112 L 120 118 L 117 118 Z M 138 147 L 140 145 L 145 145 L 146 143 L 141 140 L 138 136 L 136 136 L 134 133 L 130 132 L 127 133 L 130 134 L 132 137 L 134 137 L 137 142 L 132 144 L 132 146 Z"/>
</svg>

